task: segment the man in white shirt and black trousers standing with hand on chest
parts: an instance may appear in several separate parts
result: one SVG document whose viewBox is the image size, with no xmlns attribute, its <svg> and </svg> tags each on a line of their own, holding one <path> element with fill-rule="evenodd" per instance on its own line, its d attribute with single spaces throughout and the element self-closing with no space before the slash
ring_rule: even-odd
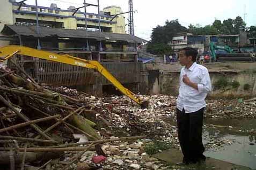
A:
<svg viewBox="0 0 256 170">
<path fill-rule="evenodd" d="M 177 100 L 177 127 L 182 153 L 182 163 L 195 164 L 206 160 L 202 143 L 204 101 L 211 91 L 208 69 L 196 64 L 198 51 L 184 48 L 179 52 L 182 66 Z"/>
</svg>

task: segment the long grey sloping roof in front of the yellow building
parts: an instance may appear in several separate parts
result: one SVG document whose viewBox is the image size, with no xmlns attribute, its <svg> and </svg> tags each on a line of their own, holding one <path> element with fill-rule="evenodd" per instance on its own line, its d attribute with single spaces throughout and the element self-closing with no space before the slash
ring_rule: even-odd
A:
<svg viewBox="0 0 256 170">
<path fill-rule="evenodd" d="M 63 28 L 50 28 L 40 27 L 39 37 L 61 37 L 61 38 L 89 38 L 98 41 L 104 40 L 116 40 L 126 41 L 129 43 L 142 43 L 147 42 L 142 38 L 129 34 L 116 34 L 107 32 L 91 32 L 80 29 L 63 29 Z M 4 35 L 19 34 L 23 36 L 34 36 L 38 37 L 36 33 L 36 26 L 17 26 L 17 25 L 5 25 L 1 32 Z"/>
</svg>

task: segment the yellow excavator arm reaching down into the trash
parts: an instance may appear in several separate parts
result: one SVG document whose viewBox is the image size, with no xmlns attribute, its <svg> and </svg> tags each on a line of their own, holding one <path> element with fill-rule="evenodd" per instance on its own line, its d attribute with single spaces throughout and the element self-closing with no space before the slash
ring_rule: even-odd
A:
<svg viewBox="0 0 256 170">
<path fill-rule="evenodd" d="M 51 53 L 42 50 L 36 50 L 33 48 L 23 47 L 19 45 L 8 45 L 0 48 L 0 62 L 14 56 L 14 55 L 24 55 L 30 56 L 50 61 L 55 61 L 58 63 L 70 64 L 74 66 L 80 66 L 85 68 L 96 69 L 100 74 L 105 76 L 105 78 L 110 81 L 117 89 L 119 89 L 122 94 L 128 96 L 134 102 L 139 104 L 142 108 L 148 107 L 148 101 L 142 101 L 140 98 L 136 97 L 133 92 L 122 86 L 122 84 L 114 78 L 114 76 L 107 71 L 98 61 L 85 60 L 70 55 L 58 55 L 57 53 Z"/>
</svg>

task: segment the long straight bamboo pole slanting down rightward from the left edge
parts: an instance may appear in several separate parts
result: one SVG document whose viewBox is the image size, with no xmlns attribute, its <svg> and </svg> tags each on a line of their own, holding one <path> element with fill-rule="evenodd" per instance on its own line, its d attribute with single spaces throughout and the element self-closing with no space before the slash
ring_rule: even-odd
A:
<svg viewBox="0 0 256 170">
<path fill-rule="evenodd" d="M 6 106 L 10 107 L 10 109 L 14 113 L 16 113 L 21 119 L 23 119 L 24 121 L 30 121 L 30 119 L 28 119 L 24 114 L 20 113 L 15 107 L 13 107 L 8 101 L 6 101 L 6 99 L 2 95 L 0 95 L 0 101 L 2 101 Z M 38 132 L 43 137 L 47 138 L 50 141 L 53 141 L 52 138 L 43 133 L 42 130 L 34 123 L 30 124 L 30 126 L 33 127 L 36 130 L 36 132 Z"/>
</svg>

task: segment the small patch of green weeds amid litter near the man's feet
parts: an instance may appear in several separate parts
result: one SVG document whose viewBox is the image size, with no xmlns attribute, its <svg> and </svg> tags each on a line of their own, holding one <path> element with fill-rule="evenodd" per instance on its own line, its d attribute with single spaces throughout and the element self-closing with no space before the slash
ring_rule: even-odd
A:
<svg viewBox="0 0 256 170">
<path fill-rule="evenodd" d="M 147 152 L 149 155 L 156 154 L 159 152 L 159 150 L 163 151 L 163 150 L 167 150 L 170 148 L 172 148 L 171 144 L 166 143 L 166 142 L 160 142 L 160 141 L 148 143 L 144 147 L 145 152 Z"/>
</svg>

